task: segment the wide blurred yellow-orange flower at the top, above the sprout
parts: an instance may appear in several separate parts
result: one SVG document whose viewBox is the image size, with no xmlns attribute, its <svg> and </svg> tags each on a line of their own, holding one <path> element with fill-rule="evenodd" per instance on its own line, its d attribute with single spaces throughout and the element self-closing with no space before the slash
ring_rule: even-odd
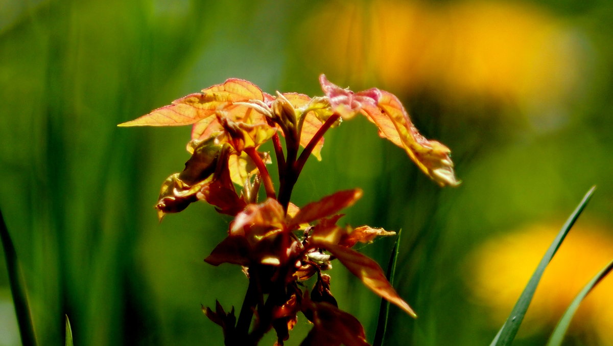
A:
<svg viewBox="0 0 613 346">
<path fill-rule="evenodd" d="M 485 96 L 539 112 L 579 80 L 576 34 L 530 4 L 335 1 L 315 13 L 300 35 L 313 47 L 307 61 L 354 85 L 432 90 L 446 101 Z"/>
</svg>

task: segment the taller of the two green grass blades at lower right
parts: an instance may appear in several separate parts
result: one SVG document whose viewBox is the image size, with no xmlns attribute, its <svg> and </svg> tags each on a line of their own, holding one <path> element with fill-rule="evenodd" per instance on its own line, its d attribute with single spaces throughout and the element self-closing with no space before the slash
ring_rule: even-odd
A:
<svg viewBox="0 0 613 346">
<path fill-rule="evenodd" d="M 589 202 L 592 198 L 592 194 L 594 193 L 595 189 L 596 186 L 592 186 L 592 188 L 590 188 L 590 191 L 587 191 L 584 198 L 579 203 L 579 206 L 577 206 L 577 208 L 574 210 L 568 220 L 566 220 L 566 223 L 564 224 L 564 226 L 562 226 L 562 229 L 560 229 L 560 232 L 555 237 L 554 242 L 551 243 L 551 245 L 547 249 L 547 252 L 541 259 L 541 262 L 536 267 L 536 270 L 532 274 L 532 277 L 530 278 L 530 281 L 528 281 L 528 284 L 525 286 L 524 291 L 519 296 L 519 299 L 517 300 L 515 306 L 513 307 L 513 310 L 511 311 L 511 315 L 509 315 L 507 320 L 504 322 L 504 325 L 502 326 L 500 331 L 498 331 L 498 334 L 496 335 L 496 337 L 494 337 L 490 346 L 506 346 L 511 344 L 517 334 L 517 331 L 519 330 L 519 326 L 524 320 L 526 310 L 528 310 L 528 306 L 530 306 L 530 301 L 534 296 L 536 286 L 541 280 L 541 276 L 543 276 L 543 272 L 545 271 L 547 264 L 549 264 L 551 259 L 554 257 L 555 253 L 560 247 L 560 244 L 562 244 L 563 240 L 565 239 L 566 234 L 568 234 L 570 229 L 573 227 L 575 221 L 577 221 L 577 218 L 579 218 L 579 215 L 581 215 L 581 212 L 583 212 L 583 210 L 585 209 L 585 206 L 587 206 L 587 202 Z"/>
</svg>

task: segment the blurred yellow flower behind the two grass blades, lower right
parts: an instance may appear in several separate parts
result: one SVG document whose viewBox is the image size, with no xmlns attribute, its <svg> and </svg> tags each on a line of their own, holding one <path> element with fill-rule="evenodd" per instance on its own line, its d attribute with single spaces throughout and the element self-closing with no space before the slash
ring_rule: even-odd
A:
<svg viewBox="0 0 613 346">
<path fill-rule="evenodd" d="M 558 228 L 529 226 L 488 240 L 470 256 L 466 283 L 474 298 L 489 307 L 493 328 L 511 312 Z M 544 272 L 522 331 L 550 333 L 577 293 L 611 259 L 610 229 L 575 226 Z M 570 333 L 596 334 L 598 345 L 613 345 L 613 278 L 605 278 L 582 302 Z"/>
</svg>

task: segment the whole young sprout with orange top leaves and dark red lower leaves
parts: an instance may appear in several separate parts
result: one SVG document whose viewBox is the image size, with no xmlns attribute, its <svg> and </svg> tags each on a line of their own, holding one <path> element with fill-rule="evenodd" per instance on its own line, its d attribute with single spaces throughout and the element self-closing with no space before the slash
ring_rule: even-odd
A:
<svg viewBox="0 0 613 346">
<path fill-rule="evenodd" d="M 273 96 L 246 80 L 228 79 L 120 125 L 192 125 L 187 145 L 192 156 L 182 172 L 162 184 L 156 209 L 161 219 L 202 200 L 234 217 L 226 239 L 205 259 L 214 266 L 238 264 L 249 279 L 238 318 L 234 308 L 228 312 L 219 302 L 214 310 L 204 309 L 223 328 L 226 345 L 256 345 L 272 328 L 276 344 L 283 345 L 299 312 L 313 323 L 302 345 L 368 345 L 362 325 L 338 308 L 330 292 L 330 276 L 324 272 L 333 259 L 370 290 L 416 317 L 381 267 L 352 250 L 358 242 L 395 233 L 337 225 L 340 210 L 354 204 L 362 190 L 339 191 L 299 208 L 290 202 L 292 189 L 307 159 L 313 155 L 321 160 L 324 133 L 357 114 L 365 115 L 379 136 L 403 148 L 440 186 L 459 184 L 450 150 L 421 136 L 394 94 L 376 88 L 353 93 L 325 75 L 319 82 L 324 96 L 310 98 L 298 93 Z M 267 169 L 272 158 L 259 150 L 268 140 L 275 148 L 278 190 Z M 261 185 L 263 200 L 258 198 Z M 303 282 L 311 277 L 316 282 L 307 288 Z"/>
</svg>

